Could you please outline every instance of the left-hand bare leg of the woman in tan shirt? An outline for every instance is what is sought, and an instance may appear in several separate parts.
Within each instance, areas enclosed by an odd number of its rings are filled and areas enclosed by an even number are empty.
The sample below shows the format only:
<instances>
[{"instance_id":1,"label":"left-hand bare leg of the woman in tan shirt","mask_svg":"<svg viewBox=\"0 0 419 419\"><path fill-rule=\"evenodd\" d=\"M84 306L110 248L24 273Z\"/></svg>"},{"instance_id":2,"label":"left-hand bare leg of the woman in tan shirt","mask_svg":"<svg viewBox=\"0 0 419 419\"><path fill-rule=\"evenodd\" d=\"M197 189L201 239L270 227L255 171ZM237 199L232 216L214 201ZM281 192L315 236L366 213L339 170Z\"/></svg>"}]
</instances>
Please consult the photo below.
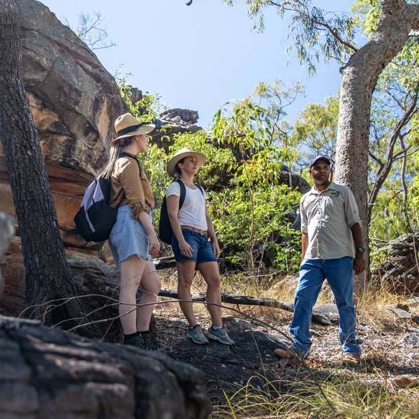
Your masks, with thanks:
<instances>
[{"instance_id":1,"label":"left-hand bare leg of the woman in tan shirt","mask_svg":"<svg viewBox=\"0 0 419 419\"><path fill-rule=\"evenodd\" d=\"M138 256L130 256L120 263L121 286L119 288L119 320L124 335L137 332L137 310L135 295L140 285L145 260Z\"/></svg>"}]
</instances>

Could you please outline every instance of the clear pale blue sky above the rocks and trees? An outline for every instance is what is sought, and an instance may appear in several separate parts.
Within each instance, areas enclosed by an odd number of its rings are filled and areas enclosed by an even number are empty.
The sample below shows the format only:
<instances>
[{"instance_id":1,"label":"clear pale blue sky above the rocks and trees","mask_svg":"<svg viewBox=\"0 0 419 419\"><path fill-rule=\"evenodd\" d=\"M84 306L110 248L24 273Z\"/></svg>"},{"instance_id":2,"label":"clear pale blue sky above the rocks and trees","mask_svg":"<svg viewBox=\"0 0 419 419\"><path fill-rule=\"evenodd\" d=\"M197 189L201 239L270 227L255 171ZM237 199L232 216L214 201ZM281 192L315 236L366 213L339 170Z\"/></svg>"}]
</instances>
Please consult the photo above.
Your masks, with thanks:
<instances>
[{"instance_id":1,"label":"clear pale blue sky above the rocks and trees","mask_svg":"<svg viewBox=\"0 0 419 419\"><path fill-rule=\"evenodd\" d=\"M288 22L272 10L265 31L252 31L244 0L235 7L222 0L42 0L60 20L75 27L80 13L100 11L116 46L96 50L103 66L115 74L131 73L128 82L159 93L170 108L198 110L207 127L223 103L248 96L258 82L302 82L305 96L288 108L297 117L307 103L323 101L339 89L335 63L319 64L308 75L295 53L287 54ZM348 11L352 1L314 1L327 10Z\"/></svg>"}]
</instances>

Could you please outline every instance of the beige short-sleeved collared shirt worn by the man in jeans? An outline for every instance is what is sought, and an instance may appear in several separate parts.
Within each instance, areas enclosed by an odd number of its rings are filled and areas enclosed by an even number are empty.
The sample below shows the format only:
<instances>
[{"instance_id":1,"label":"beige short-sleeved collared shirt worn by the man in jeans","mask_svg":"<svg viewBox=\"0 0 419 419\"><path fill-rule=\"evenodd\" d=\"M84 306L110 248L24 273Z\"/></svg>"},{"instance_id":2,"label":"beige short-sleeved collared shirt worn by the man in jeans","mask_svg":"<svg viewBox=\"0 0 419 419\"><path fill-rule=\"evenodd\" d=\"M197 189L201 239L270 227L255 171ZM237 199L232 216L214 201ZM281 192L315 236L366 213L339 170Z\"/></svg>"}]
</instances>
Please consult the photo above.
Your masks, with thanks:
<instances>
[{"instance_id":1,"label":"beige short-sleeved collared shirt worn by the man in jeans","mask_svg":"<svg viewBox=\"0 0 419 419\"><path fill-rule=\"evenodd\" d=\"M304 258L355 257L351 227L360 223L351 189L331 182L322 192L311 188L300 200L301 231L308 235Z\"/></svg>"}]
</instances>

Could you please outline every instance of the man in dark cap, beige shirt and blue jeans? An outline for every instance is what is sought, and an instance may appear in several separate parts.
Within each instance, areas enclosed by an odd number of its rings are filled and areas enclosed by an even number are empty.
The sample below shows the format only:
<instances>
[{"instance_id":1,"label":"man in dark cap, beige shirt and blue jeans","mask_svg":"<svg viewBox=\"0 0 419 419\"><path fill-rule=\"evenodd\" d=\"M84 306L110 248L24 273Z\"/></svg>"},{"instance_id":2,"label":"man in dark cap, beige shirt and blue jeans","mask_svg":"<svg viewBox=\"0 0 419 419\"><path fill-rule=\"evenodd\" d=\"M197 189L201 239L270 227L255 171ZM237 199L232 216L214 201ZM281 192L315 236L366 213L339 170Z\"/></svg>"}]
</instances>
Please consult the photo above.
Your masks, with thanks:
<instances>
[{"instance_id":1,"label":"man in dark cap, beige shirt and blue jeans","mask_svg":"<svg viewBox=\"0 0 419 419\"><path fill-rule=\"evenodd\" d=\"M300 200L302 263L291 322L293 344L276 349L279 358L304 359L311 347L311 312L325 279L339 310L339 339L346 364L358 365L360 347L355 337L353 273L365 270L358 207L350 189L330 182L330 160L311 162L314 186Z\"/></svg>"}]
</instances>

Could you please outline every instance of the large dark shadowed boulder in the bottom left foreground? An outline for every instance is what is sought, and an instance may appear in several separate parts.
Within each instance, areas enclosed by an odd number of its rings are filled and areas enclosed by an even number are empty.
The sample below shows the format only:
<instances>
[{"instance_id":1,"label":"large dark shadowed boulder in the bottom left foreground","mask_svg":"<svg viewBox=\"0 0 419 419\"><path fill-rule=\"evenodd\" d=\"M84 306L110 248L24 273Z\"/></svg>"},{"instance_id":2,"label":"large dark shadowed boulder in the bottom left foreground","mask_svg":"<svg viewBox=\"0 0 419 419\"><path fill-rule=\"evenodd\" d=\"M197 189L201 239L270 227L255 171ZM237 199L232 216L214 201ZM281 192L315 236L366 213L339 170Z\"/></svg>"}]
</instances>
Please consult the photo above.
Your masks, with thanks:
<instances>
[{"instance_id":1,"label":"large dark shadowed boulder in the bottom left foreground","mask_svg":"<svg viewBox=\"0 0 419 419\"><path fill-rule=\"evenodd\" d=\"M207 418L198 369L0 316L1 418Z\"/></svg>"}]
</instances>

